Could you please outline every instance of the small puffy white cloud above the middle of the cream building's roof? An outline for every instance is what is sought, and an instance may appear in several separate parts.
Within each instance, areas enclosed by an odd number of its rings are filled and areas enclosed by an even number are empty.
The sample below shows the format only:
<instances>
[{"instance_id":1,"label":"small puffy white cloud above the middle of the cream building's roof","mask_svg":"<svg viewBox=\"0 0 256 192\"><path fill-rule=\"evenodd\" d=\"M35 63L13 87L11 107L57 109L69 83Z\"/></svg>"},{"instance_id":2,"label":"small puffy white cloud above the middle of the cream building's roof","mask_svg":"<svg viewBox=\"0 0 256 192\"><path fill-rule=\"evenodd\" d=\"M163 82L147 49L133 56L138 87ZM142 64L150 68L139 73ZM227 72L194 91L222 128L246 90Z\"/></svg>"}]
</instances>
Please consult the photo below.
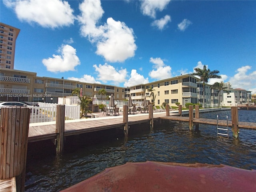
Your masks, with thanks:
<instances>
[{"instance_id":1,"label":"small puffy white cloud above the middle of the cream building's roof","mask_svg":"<svg viewBox=\"0 0 256 192\"><path fill-rule=\"evenodd\" d=\"M161 58L150 58L150 62L153 63L153 68L156 70L152 70L149 72L149 76L153 79L162 80L170 78L172 68L170 66L166 66Z\"/></svg>"}]
</instances>

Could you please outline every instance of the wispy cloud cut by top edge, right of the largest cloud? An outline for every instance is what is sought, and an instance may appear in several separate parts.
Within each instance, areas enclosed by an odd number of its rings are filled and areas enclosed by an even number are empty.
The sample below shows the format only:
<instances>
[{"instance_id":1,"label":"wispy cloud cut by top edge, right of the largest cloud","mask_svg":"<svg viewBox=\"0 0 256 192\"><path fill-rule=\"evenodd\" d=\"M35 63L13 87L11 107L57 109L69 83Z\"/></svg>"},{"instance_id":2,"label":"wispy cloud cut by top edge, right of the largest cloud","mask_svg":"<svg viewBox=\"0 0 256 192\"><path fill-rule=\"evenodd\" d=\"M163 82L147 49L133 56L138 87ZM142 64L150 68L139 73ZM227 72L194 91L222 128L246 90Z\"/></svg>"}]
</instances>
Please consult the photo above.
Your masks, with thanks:
<instances>
[{"instance_id":1,"label":"wispy cloud cut by top edge, right of the largest cloud","mask_svg":"<svg viewBox=\"0 0 256 192\"><path fill-rule=\"evenodd\" d=\"M141 11L143 15L150 16L151 18L156 18L156 11L162 11L166 8L170 0L145 0L141 3Z\"/></svg>"}]
</instances>

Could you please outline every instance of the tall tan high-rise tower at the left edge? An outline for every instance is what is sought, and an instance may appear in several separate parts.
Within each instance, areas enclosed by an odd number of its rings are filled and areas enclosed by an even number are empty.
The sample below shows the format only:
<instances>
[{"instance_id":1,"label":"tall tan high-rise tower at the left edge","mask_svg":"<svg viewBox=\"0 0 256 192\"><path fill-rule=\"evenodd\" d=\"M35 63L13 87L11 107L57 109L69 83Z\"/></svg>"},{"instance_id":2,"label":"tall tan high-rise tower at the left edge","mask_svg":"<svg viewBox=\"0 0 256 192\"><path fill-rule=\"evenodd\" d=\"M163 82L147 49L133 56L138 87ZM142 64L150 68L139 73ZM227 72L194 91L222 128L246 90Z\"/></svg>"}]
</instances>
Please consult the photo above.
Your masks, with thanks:
<instances>
[{"instance_id":1,"label":"tall tan high-rise tower at the left edge","mask_svg":"<svg viewBox=\"0 0 256 192\"><path fill-rule=\"evenodd\" d=\"M0 23L0 68L14 68L15 44L20 29Z\"/></svg>"}]
</instances>

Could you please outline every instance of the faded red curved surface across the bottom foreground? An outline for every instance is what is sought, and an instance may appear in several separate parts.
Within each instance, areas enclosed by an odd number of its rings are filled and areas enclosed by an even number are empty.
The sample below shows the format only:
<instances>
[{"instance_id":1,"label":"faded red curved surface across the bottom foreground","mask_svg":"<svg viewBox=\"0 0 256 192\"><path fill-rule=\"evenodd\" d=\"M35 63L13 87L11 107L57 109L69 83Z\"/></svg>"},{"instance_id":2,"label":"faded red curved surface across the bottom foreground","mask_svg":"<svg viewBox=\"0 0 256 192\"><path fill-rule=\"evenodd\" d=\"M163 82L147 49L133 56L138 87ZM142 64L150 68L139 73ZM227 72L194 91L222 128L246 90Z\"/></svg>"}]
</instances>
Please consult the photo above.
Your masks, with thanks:
<instances>
[{"instance_id":1,"label":"faded red curved surface across the bottom foreground","mask_svg":"<svg viewBox=\"0 0 256 192\"><path fill-rule=\"evenodd\" d=\"M138 162L106 168L62 192L255 191L256 170L226 165Z\"/></svg>"}]
</instances>

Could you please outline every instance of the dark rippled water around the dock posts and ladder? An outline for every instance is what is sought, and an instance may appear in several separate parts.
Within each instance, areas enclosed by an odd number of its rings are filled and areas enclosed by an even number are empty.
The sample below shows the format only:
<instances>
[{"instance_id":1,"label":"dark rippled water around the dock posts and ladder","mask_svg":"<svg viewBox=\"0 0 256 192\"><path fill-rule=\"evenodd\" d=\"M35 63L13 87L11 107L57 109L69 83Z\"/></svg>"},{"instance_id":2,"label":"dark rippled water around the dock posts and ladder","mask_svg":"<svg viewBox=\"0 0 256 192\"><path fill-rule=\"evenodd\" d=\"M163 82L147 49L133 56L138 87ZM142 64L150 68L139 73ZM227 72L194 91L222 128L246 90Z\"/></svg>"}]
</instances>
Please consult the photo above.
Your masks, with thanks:
<instances>
[{"instance_id":1,"label":"dark rippled water around the dock posts and ladder","mask_svg":"<svg viewBox=\"0 0 256 192\"><path fill-rule=\"evenodd\" d=\"M226 120L230 110L200 114L202 118ZM256 122L256 111L239 110L239 121ZM231 120L229 118L229 120ZM167 122L131 127L125 140L122 130L108 130L66 140L66 151L54 155L52 142L28 146L26 191L55 192L72 186L105 168L126 162L181 162L225 164L256 170L256 131L240 130L239 141L218 138L216 126L200 125L189 132L188 123ZM70 141L76 140L77 142Z\"/></svg>"}]
</instances>

